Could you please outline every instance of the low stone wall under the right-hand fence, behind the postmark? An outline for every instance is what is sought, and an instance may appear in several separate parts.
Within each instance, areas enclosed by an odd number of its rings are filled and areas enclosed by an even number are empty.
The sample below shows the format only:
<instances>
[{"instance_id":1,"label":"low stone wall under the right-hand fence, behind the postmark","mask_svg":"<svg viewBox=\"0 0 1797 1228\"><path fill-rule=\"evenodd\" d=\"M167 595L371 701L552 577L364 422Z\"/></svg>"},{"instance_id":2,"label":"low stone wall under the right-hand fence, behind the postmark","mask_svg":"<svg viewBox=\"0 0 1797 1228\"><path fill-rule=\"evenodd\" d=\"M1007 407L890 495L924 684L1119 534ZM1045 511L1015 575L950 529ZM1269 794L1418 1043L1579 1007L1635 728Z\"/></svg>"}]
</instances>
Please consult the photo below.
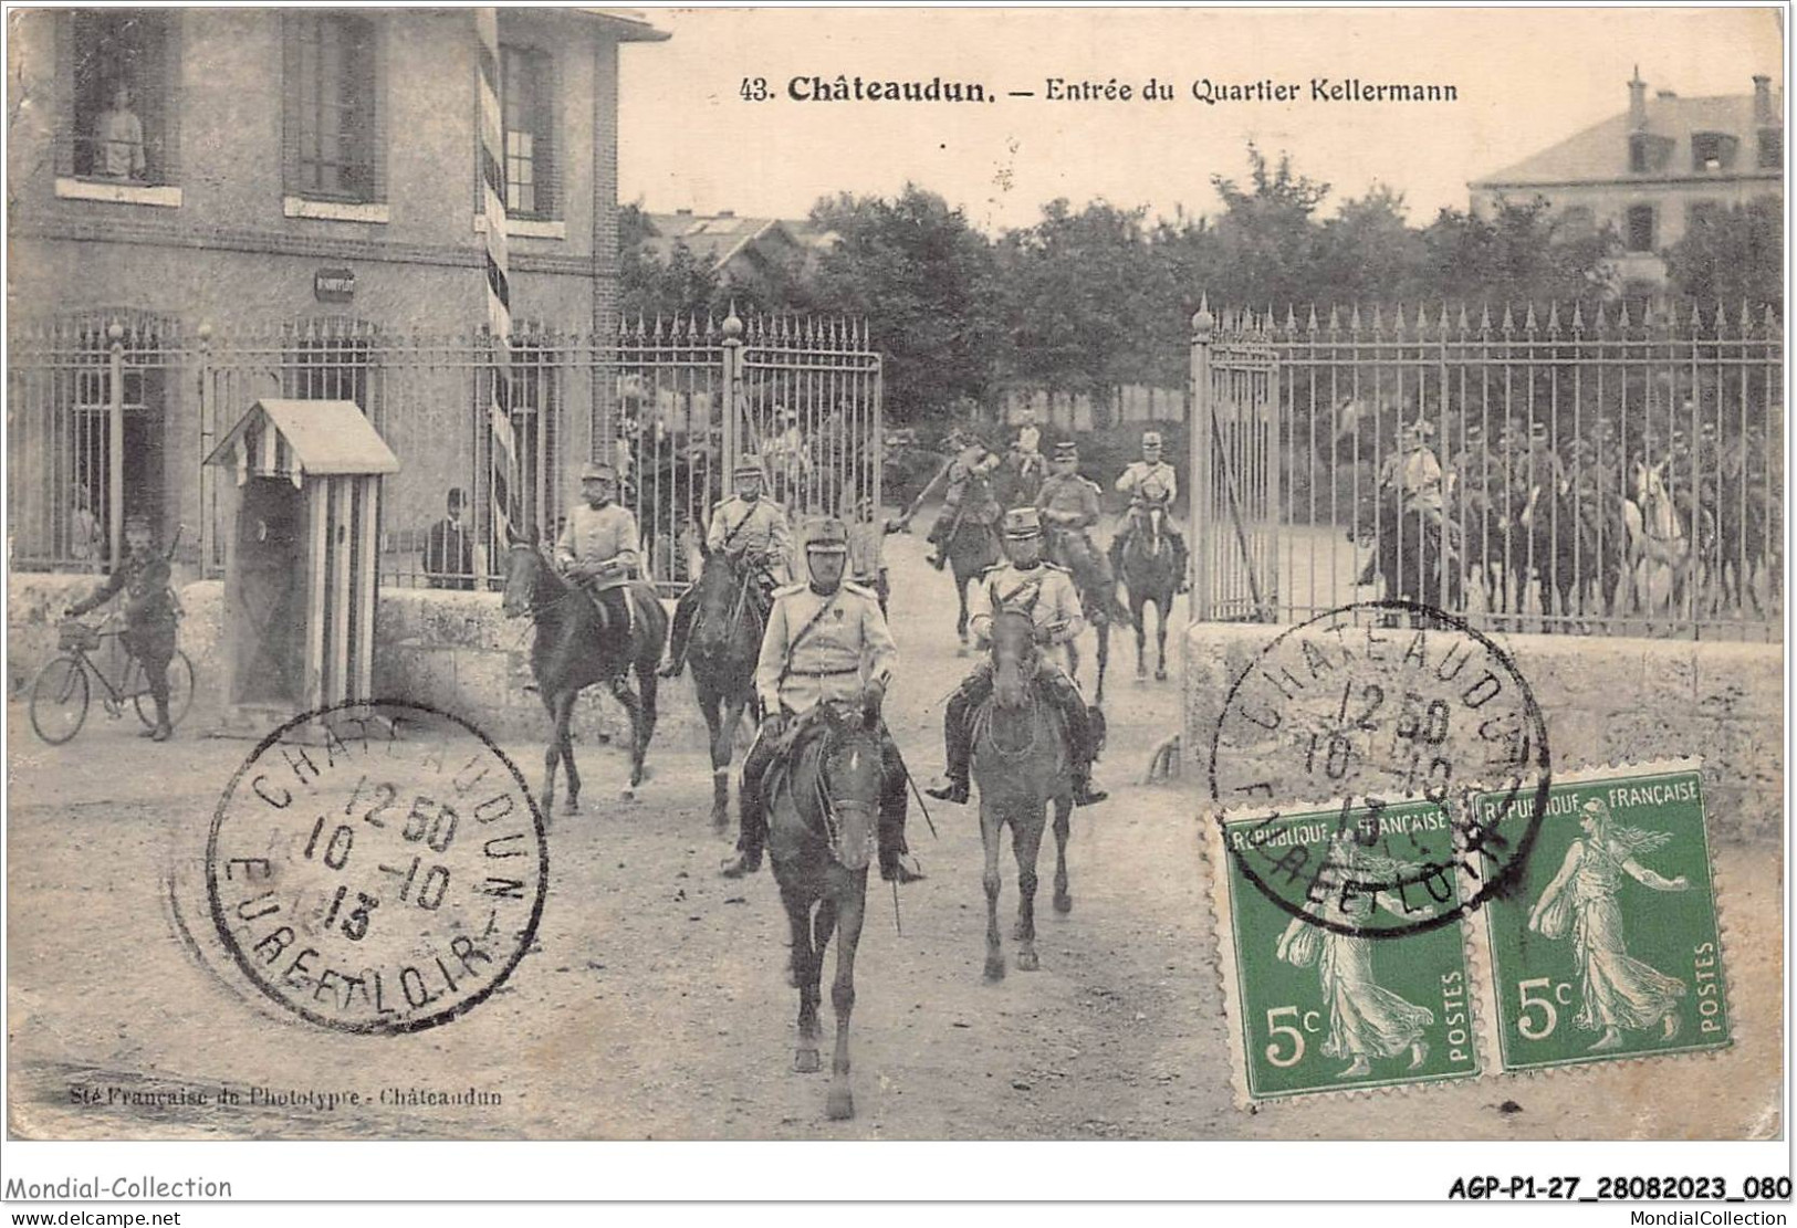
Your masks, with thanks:
<instances>
[{"instance_id":1,"label":"low stone wall under the right-hand fence, behind the postmark","mask_svg":"<svg viewBox=\"0 0 1797 1228\"><path fill-rule=\"evenodd\" d=\"M1186 632L1184 772L1206 790L1229 686L1283 627ZM1305 632L1297 632L1303 636ZM1315 632L1321 641L1324 632ZM1711 833L1779 844L1783 645L1492 636L1535 693L1556 768L1702 756Z\"/></svg>"}]
</instances>

